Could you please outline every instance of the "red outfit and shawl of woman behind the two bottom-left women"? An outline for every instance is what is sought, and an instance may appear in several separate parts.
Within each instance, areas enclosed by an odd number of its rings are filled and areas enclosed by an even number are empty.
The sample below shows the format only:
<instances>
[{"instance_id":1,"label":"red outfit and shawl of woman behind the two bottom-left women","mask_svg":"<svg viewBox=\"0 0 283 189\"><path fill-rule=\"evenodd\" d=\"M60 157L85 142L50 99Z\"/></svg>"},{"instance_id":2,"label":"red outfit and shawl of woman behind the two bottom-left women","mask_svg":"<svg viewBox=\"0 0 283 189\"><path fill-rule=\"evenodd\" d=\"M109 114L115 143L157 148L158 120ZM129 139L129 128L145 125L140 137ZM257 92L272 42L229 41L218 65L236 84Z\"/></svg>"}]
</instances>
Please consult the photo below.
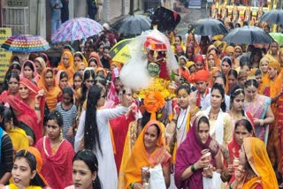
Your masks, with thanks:
<instances>
[{"instance_id":1,"label":"red outfit and shawl of woman behind the two bottom-left women","mask_svg":"<svg viewBox=\"0 0 283 189\"><path fill-rule=\"evenodd\" d=\"M51 153L50 140L43 137L35 146L42 155L42 176L51 188L64 189L73 185L73 147L67 140L63 140L55 155Z\"/></svg>"}]
</instances>

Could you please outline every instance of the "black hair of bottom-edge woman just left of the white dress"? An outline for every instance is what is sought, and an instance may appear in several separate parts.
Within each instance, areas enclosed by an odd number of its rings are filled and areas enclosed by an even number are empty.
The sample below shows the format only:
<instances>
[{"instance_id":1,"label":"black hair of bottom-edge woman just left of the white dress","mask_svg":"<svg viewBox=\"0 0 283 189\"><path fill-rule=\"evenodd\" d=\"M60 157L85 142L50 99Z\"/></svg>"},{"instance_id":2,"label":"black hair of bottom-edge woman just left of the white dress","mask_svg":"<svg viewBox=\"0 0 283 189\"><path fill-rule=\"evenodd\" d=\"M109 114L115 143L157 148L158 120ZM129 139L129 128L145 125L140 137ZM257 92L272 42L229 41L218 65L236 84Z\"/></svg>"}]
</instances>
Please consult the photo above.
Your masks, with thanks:
<instances>
[{"instance_id":1,"label":"black hair of bottom-edge woman just left of the white dress","mask_svg":"<svg viewBox=\"0 0 283 189\"><path fill-rule=\"evenodd\" d=\"M86 163L88 169L91 171L92 174L96 172L96 179L93 181L92 185L93 188L101 189L102 186L100 183L100 179L98 178L98 161L96 155L89 149L80 150L79 152L77 152L76 155L73 156L73 162L78 160Z\"/></svg>"}]
</instances>

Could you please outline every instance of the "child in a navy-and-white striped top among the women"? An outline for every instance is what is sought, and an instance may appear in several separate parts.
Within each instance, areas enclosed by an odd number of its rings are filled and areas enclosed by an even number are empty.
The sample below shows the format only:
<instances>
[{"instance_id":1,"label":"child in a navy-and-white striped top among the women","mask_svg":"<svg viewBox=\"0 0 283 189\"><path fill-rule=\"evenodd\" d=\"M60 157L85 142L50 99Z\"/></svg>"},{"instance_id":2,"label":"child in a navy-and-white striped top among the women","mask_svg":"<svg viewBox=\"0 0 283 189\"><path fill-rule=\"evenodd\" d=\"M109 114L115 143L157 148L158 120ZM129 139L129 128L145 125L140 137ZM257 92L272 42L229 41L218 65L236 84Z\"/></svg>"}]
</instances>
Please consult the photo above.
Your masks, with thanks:
<instances>
[{"instance_id":1,"label":"child in a navy-and-white striped top among the women","mask_svg":"<svg viewBox=\"0 0 283 189\"><path fill-rule=\"evenodd\" d=\"M71 87L63 88L63 100L57 103L57 111L63 116L63 139L73 145L73 129L76 126L77 107L73 104L73 90Z\"/></svg>"}]
</instances>

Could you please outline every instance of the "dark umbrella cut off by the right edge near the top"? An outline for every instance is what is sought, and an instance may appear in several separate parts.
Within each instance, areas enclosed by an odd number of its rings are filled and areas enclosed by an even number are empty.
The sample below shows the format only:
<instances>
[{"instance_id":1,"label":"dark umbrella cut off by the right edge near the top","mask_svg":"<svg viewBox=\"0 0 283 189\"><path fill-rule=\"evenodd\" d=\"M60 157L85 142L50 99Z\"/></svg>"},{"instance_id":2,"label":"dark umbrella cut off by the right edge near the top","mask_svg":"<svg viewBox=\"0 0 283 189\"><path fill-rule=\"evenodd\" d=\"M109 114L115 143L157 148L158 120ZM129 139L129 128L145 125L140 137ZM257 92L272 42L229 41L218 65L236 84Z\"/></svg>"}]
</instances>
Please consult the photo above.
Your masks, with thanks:
<instances>
[{"instance_id":1,"label":"dark umbrella cut off by the right edge near the top","mask_svg":"<svg viewBox=\"0 0 283 189\"><path fill-rule=\"evenodd\" d=\"M272 10L267 11L260 18L260 22L267 22L269 24L282 24L283 25L283 11L282 10Z\"/></svg>"}]
</instances>

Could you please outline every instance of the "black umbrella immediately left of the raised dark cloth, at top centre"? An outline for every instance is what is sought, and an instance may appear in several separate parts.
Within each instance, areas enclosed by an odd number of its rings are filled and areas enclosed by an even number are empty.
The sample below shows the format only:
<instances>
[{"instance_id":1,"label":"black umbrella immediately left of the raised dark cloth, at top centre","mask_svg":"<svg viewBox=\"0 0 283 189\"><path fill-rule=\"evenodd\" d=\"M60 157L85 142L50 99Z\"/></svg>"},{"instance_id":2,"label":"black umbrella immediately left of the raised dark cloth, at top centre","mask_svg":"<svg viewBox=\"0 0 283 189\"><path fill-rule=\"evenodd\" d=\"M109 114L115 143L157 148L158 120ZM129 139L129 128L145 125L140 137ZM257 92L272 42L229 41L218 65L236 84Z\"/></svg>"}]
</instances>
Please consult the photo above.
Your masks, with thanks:
<instances>
[{"instance_id":1,"label":"black umbrella immediately left of the raised dark cloth, at top centre","mask_svg":"<svg viewBox=\"0 0 283 189\"><path fill-rule=\"evenodd\" d=\"M113 28L121 34L142 34L143 31L149 30L150 26L151 20L148 17L131 15L120 20Z\"/></svg>"}]
</instances>

